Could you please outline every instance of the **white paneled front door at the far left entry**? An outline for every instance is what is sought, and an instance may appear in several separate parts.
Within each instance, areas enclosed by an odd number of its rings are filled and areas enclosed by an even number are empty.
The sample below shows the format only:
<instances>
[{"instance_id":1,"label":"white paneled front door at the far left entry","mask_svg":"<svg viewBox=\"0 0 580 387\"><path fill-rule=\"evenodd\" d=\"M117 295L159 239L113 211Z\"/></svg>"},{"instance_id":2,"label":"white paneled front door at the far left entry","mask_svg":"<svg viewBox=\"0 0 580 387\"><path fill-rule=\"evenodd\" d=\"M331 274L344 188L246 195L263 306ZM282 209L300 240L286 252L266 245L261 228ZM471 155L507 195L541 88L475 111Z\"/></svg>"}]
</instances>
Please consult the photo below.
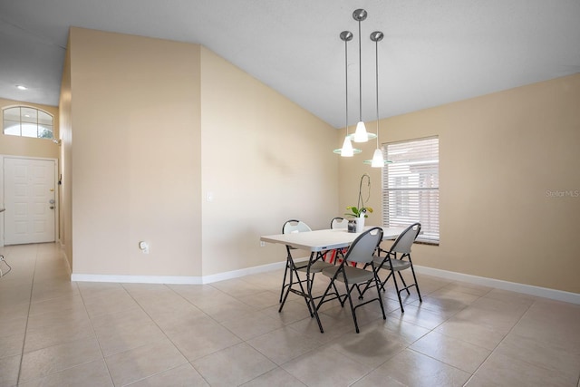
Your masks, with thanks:
<instances>
[{"instance_id":1,"label":"white paneled front door at the far left entry","mask_svg":"<svg viewBox=\"0 0 580 387\"><path fill-rule=\"evenodd\" d=\"M4 158L5 244L54 242L54 160Z\"/></svg>"}]
</instances>

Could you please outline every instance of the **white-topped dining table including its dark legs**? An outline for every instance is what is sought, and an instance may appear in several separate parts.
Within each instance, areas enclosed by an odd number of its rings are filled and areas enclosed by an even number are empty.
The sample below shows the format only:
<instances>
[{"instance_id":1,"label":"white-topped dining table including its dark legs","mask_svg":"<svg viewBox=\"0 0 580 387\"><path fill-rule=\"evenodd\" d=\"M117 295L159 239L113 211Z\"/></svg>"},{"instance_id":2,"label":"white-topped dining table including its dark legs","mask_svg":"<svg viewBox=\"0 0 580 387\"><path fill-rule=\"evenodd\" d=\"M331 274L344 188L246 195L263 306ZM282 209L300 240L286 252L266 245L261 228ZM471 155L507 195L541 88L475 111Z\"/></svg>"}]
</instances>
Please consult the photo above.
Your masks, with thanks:
<instances>
[{"instance_id":1,"label":"white-topped dining table including its dark legs","mask_svg":"<svg viewBox=\"0 0 580 387\"><path fill-rule=\"evenodd\" d=\"M364 230L362 232L372 227L373 226L366 226L364 227ZM404 227L381 227L381 228L382 228L382 240L394 239L398 237L399 234L401 234L401 232L404 230ZM302 288L300 289L293 288L292 286L293 283L291 280L290 285L286 289L285 295L292 292L295 293L296 295L301 295L302 297L304 297L306 305L308 306L308 310L310 311L311 316L316 318L316 322L318 323L318 327L320 328L321 333L324 333L324 329L322 323L320 322L320 317L318 316L317 307L314 304L314 300L317 297L314 297L312 295L312 284L314 280L314 273L311 276L310 266L314 264L314 262L317 261L318 259L324 259L324 254L328 251L339 250L351 246L354 240L357 237L361 236L362 232L360 233L349 232L347 228L329 228L313 231L294 232L288 234L266 235L260 237L261 242L281 244L285 245L286 247L310 251L310 257L308 258L309 262L305 270L306 290L304 291ZM294 260L295 258L288 253L288 259ZM298 284L301 285L300 282L298 282ZM286 296L284 297L284 301L281 302L278 312L282 312L282 308L284 307L285 304L285 298Z\"/></svg>"}]
</instances>

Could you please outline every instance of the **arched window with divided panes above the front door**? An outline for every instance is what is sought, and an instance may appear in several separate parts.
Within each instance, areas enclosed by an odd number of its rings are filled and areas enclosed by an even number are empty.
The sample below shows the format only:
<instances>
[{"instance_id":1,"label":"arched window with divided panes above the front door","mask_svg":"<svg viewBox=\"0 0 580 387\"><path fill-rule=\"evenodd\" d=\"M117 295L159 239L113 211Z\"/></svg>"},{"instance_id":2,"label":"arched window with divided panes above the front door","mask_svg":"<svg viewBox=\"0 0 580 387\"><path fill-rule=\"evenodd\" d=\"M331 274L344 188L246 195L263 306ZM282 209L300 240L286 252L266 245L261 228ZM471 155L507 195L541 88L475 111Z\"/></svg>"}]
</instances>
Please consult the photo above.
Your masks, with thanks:
<instances>
[{"instance_id":1,"label":"arched window with divided panes above the front door","mask_svg":"<svg viewBox=\"0 0 580 387\"><path fill-rule=\"evenodd\" d=\"M29 106L13 106L2 111L4 134L53 140L53 115Z\"/></svg>"}]
</instances>

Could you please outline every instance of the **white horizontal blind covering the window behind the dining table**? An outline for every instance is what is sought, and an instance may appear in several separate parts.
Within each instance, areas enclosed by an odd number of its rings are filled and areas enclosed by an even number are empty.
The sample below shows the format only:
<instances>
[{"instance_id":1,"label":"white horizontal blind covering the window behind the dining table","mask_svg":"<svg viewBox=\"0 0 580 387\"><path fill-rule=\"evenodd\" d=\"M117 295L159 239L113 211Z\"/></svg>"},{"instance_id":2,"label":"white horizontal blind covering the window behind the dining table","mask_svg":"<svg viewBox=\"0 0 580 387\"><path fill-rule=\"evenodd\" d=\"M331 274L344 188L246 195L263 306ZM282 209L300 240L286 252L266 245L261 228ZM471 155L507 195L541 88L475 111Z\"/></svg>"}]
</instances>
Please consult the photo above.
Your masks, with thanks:
<instances>
[{"instance_id":1,"label":"white horizontal blind covering the window behind the dining table","mask_svg":"<svg viewBox=\"0 0 580 387\"><path fill-rule=\"evenodd\" d=\"M439 138L385 144L382 223L407 227L420 222L423 242L439 242Z\"/></svg>"}]
</instances>

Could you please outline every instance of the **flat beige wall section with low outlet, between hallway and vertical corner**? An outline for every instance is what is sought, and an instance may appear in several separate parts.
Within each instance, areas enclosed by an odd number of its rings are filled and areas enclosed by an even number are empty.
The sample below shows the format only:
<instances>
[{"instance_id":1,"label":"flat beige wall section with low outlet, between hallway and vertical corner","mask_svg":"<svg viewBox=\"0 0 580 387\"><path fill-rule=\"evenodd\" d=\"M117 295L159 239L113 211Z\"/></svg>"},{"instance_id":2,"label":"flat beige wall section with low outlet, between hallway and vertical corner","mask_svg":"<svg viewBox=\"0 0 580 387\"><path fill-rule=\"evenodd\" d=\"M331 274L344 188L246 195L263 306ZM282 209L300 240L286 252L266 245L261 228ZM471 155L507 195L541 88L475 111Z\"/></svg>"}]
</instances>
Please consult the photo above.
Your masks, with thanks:
<instances>
[{"instance_id":1,"label":"flat beige wall section with low outlet, between hallway and vertical corner","mask_svg":"<svg viewBox=\"0 0 580 387\"><path fill-rule=\"evenodd\" d=\"M72 28L70 53L73 274L200 275L198 45Z\"/></svg>"}]
</instances>

